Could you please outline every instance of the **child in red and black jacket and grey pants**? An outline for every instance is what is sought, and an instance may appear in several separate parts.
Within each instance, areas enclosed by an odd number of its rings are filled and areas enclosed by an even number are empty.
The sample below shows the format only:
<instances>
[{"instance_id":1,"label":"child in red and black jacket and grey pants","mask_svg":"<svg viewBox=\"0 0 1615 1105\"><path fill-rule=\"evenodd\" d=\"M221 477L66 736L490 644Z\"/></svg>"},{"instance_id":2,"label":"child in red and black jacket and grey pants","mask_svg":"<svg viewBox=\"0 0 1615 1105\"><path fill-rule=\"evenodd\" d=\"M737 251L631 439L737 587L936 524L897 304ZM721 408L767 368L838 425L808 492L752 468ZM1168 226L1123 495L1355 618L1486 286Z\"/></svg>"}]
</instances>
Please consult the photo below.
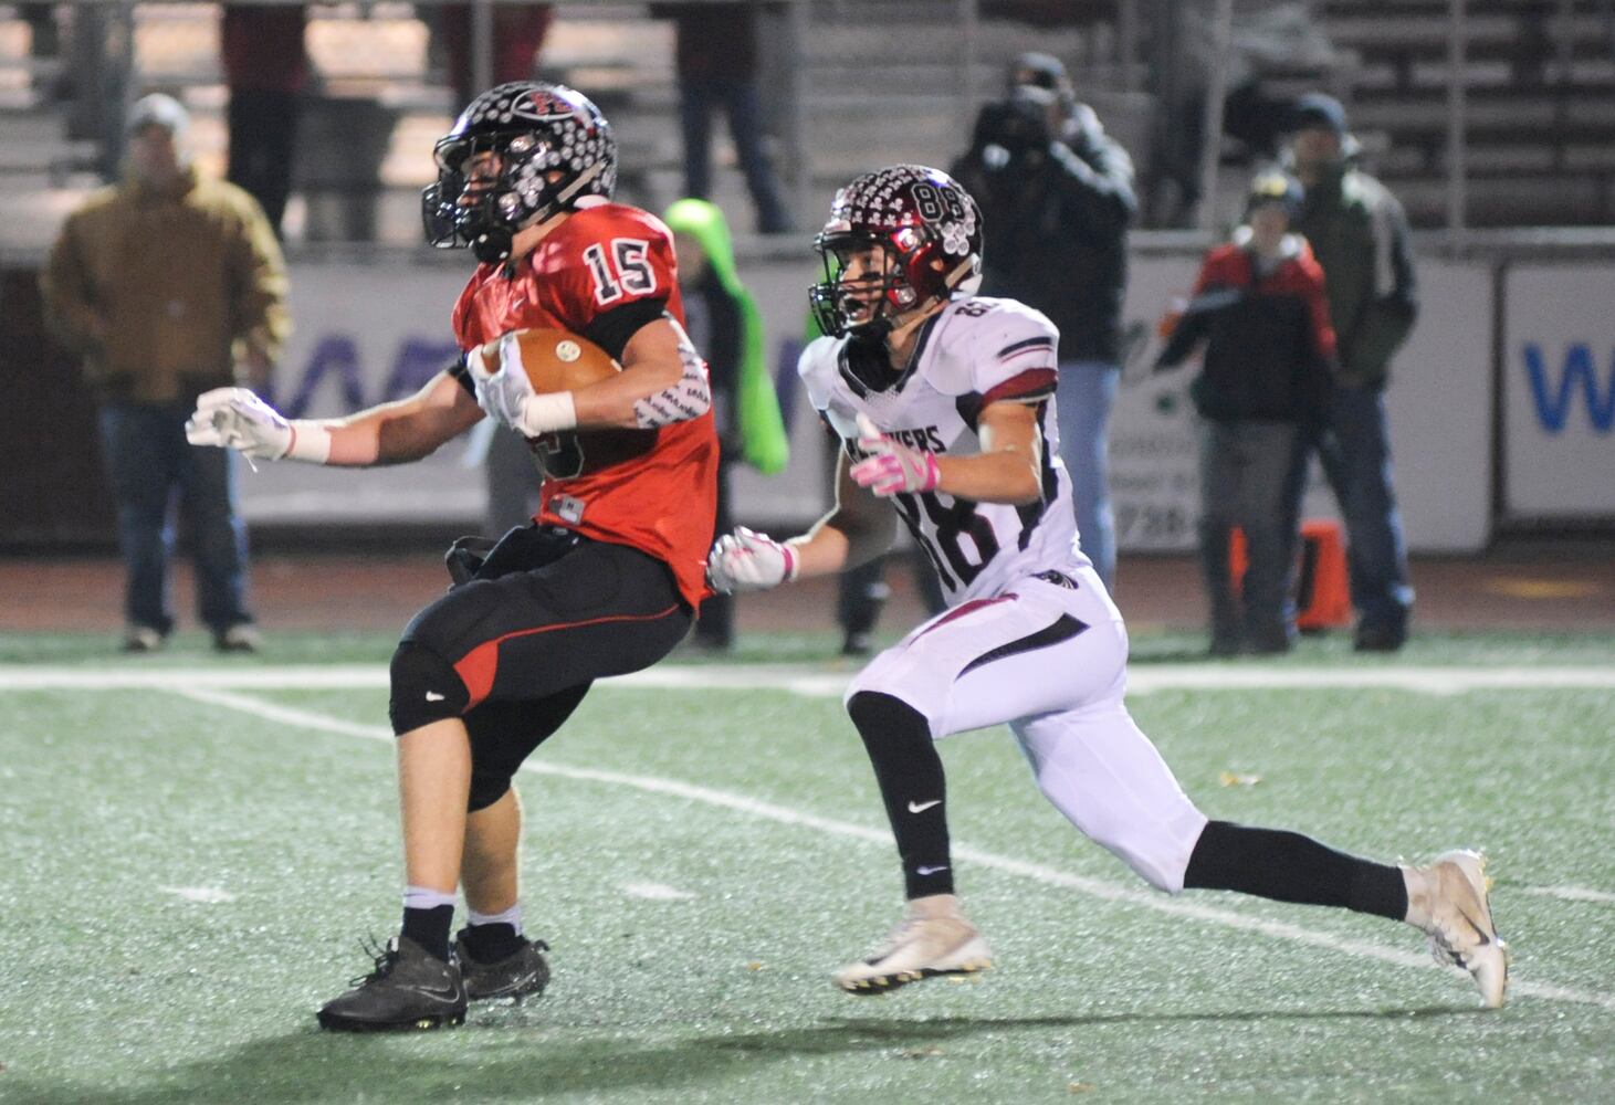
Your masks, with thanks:
<instances>
[{"instance_id":1,"label":"child in red and black jacket and grey pants","mask_svg":"<svg viewBox=\"0 0 1615 1105\"><path fill-rule=\"evenodd\" d=\"M1324 417L1336 355L1323 270L1289 233L1302 187L1282 173L1252 184L1247 225L1213 249L1156 368L1205 342L1190 386L1200 412L1200 564L1211 599L1211 653L1284 653L1295 637L1290 575L1302 485L1294 457ZM1245 535L1240 595L1229 536ZM1244 609L1242 609L1244 607Z\"/></svg>"}]
</instances>

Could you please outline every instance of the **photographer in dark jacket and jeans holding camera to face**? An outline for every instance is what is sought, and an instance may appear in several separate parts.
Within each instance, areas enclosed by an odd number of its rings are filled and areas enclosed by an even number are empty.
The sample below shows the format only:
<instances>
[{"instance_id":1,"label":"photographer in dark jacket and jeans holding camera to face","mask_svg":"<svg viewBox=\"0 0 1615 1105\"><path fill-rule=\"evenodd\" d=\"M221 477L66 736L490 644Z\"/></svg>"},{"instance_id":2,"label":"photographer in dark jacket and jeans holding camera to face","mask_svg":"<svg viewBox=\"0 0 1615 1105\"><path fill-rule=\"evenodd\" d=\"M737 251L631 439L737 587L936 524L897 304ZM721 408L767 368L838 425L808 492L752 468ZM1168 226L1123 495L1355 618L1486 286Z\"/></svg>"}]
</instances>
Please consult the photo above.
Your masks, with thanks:
<instances>
[{"instance_id":1,"label":"photographer in dark jacket and jeans holding camera to face","mask_svg":"<svg viewBox=\"0 0 1615 1105\"><path fill-rule=\"evenodd\" d=\"M1108 430L1137 212L1132 158L1077 103L1056 58L1026 53L1009 69L1008 100L982 108L953 176L982 205L982 292L1037 307L1059 328L1059 454L1082 551L1113 586Z\"/></svg>"}]
</instances>

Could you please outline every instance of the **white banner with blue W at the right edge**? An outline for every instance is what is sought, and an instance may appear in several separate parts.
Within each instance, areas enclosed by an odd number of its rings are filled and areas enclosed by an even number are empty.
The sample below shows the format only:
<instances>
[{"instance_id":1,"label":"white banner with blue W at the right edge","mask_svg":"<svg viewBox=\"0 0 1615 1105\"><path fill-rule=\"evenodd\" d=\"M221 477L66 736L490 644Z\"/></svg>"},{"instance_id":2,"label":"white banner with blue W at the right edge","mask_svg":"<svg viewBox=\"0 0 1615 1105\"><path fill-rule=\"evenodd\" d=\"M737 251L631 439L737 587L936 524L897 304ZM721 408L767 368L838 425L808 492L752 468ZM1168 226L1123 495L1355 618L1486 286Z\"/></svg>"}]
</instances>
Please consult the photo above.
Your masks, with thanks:
<instances>
[{"instance_id":1,"label":"white banner with blue W at the right edge","mask_svg":"<svg viewBox=\"0 0 1615 1105\"><path fill-rule=\"evenodd\" d=\"M1505 276L1504 509L1615 517L1615 265Z\"/></svg>"}]
</instances>

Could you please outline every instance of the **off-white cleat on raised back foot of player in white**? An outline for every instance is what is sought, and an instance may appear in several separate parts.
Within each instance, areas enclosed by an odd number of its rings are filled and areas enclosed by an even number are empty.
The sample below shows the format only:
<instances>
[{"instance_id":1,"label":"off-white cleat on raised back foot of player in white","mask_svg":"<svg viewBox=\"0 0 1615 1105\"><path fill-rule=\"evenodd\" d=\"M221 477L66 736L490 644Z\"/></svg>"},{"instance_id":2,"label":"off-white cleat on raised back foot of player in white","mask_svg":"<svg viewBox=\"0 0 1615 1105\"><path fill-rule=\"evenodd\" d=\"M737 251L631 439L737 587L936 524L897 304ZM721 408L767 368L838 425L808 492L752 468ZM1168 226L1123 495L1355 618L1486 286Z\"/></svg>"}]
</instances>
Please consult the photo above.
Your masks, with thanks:
<instances>
[{"instance_id":1,"label":"off-white cleat on raised back foot of player in white","mask_svg":"<svg viewBox=\"0 0 1615 1105\"><path fill-rule=\"evenodd\" d=\"M1436 963L1468 971L1481 987L1481 1003L1500 1008L1508 989L1508 945L1492 924L1486 856L1447 851L1410 874L1408 922L1429 934Z\"/></svg>"}]
</instances>

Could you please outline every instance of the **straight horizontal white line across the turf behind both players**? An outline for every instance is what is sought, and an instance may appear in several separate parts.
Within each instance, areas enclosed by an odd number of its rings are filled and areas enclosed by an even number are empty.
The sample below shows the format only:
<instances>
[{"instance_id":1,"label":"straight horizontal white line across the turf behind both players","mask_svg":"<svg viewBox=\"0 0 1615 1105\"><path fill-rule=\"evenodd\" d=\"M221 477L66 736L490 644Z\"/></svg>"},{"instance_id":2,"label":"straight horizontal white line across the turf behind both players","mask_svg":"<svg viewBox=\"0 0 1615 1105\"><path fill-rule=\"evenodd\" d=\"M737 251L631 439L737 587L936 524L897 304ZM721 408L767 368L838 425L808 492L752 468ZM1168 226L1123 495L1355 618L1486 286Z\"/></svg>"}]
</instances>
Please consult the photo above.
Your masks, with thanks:
<instances>
[{"instance_id":1,"label":"straight horizontal white line across the turf behind both players","mask_svg":"<svg viewBox=\"0 0 1615 1105\"><path fill-rule=\"evenodd\" d=\"M856 672L809 664L662 664L601 685L656 690L772 690L840 698ZM21 690L368 690L388 687L384 664L278 667L32 667L0 664L0 691ZM1386 688L1424 695L1476 690L1615 688L1605 667L1263 667L1226 664L1139 664L1127 693L1164 690Z\"/></svg>"}]
</instances>

